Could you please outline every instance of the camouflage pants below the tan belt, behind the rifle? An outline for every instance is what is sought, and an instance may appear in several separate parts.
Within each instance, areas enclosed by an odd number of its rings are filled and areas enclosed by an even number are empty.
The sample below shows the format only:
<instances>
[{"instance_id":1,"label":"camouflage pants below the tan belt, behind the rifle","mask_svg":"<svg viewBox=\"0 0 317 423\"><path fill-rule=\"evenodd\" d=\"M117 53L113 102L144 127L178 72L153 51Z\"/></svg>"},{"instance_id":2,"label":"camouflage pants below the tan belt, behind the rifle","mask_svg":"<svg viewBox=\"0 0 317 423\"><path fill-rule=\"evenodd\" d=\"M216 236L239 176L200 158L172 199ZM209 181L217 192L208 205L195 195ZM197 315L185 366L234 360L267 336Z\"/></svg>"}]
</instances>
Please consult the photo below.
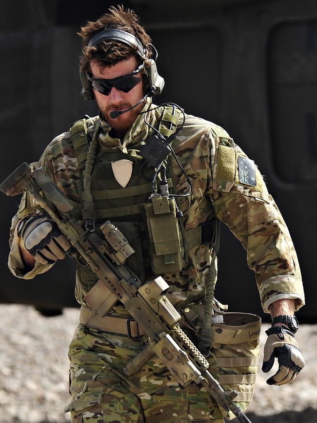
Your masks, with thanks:
<instances>
[{"instance_id":1,"label":"camouflage pants below the tan belt, behind the rifle","mask_svg":"<svg viewBox=\"0 0 317 423\"><path fill-rule=\"evenodd\" d=\"M181 387L156 358L127 377L122 369L144 347L145 337L129 339L84 328L70 344L73 423L223 423L205 388Z\"/></svg>"}]
</instances>

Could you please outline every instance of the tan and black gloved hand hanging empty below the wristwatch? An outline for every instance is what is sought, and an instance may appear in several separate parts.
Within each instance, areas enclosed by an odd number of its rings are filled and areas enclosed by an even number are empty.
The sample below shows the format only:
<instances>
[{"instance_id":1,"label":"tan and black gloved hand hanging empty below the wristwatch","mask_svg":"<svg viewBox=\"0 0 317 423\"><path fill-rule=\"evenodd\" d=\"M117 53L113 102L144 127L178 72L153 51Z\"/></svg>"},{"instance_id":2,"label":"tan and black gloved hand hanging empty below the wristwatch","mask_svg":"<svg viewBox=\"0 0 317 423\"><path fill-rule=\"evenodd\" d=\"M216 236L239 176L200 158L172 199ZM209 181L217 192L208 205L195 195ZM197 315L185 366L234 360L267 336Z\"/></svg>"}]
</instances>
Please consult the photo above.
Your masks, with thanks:
<instances>
[{"instance_id":1,"label":"tan and black gloved hand hanging empty below the wristwatch","mask_svg":"<svg viewBox=\"0 0 317 423\"><path fill-rule=\"evenodd\" d=\"M278 361L277 373L269 378L269 385L285 385L293 382L305 366L304 357L298 349L294 334L284 326L273 326L265 332L268 335L264 345L262 371L272 369L275 358Z\"/></svg>"}]
</instances>

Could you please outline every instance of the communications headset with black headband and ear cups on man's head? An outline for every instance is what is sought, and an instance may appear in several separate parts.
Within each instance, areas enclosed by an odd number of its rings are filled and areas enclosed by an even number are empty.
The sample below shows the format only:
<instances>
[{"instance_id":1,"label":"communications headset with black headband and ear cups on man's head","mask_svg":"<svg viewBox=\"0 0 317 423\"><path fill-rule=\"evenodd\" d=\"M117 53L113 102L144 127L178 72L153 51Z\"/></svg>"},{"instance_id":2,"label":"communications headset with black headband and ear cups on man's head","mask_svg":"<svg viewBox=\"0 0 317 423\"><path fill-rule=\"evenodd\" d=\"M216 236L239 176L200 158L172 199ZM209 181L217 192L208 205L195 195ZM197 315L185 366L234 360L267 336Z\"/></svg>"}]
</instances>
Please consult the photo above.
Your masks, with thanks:
<instances>
[{"instance_id":1,"label":"communications headset with black headband and ear cups on man's head","mask_svg":"<svg viewBox=\"0 0 317 423\"><path fill-rule=\"evenodd\" d=\"M105 29L104 31L101 31L96 34L88 42L87 46L90 47L91 45L97 45L105 40L116 40L119 42L123 42L124 44L129 45L130 47L137 48L136 53L139 58L143 61L144 73L150 85L150 89L148 93L144 96L144 98L147 96L152 96L161 93L164 87L164 79L158 75L158 70L155 63L158 58L158 52L152 44L151 46L155 50L154 59L150 59L148 57L148 49L144 47L141 42L137 39L137 37L135 37L133 34L130 34L126 31L122 31L121 29ZM79 68L79 76L82 84L81 97L84 100L95 100L93 94L93 87L91 86L88 80L87 72L82 69L81 64Z\"/></svg>"}]
</instances>

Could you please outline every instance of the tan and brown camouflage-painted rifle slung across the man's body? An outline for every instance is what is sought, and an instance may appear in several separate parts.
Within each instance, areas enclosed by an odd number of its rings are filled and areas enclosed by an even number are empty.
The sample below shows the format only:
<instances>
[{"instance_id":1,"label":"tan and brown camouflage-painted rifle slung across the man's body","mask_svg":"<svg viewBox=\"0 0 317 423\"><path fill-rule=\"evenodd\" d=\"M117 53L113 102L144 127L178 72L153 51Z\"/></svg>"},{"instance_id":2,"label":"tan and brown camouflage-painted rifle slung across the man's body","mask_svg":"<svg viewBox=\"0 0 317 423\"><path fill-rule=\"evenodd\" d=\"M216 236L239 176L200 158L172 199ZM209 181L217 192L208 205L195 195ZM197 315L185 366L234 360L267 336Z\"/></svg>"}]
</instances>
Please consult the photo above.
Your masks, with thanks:
<instances>
[{"instance_id":1,"label":"tan and brown camouflage-painted rifle slung across the man's body","mask_svg":"<svg viewBox=\"0 0 317 423\"><path fill-rule=\"evenodd\" d=\"M142 283L124 264L134 250L118 228L106 221L100 226L103 236L84 230L72 217L74 204L36 164L31 169L27 163L22 163L2 182L0 190L8 196L28 191L57 223L72 246L66 254L69 257L79 255L99 277L84 300L100 317L104 317L119 300L142 327L149 343L127 363L123 370L127 376L157 355L180 385L185 386L191 381L201 384L225 413L231 411L239 422L251 423L233 402L237 391L228 394L222 389L207 370L208 361L180 329L178 322L181 316L165 296L169 288L165 280L158 276ZM45 200L45 196L49 201ZM59 213L50 206L50 202Z\"/></svg>"}]
</instances>

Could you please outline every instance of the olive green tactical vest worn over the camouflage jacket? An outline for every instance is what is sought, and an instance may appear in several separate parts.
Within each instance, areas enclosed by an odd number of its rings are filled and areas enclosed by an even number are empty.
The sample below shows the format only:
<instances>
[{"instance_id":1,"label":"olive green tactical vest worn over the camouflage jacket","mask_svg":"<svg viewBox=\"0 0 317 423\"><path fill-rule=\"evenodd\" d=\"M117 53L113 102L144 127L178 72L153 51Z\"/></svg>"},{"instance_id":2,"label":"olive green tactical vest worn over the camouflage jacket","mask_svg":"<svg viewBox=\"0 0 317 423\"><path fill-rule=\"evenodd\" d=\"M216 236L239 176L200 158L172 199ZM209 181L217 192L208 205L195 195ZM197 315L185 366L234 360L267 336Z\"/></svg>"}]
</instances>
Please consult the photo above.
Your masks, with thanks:
<instances>
[{"instance_id":1,"label":"olive green tactical vest worn over the camouflage jacket","mask_svg":"<svg viewBox=\"0 0 317 423\"><path fill-rule=\"evenodd\" d=\"M85 190L83 169L86 165L90 141L86 122L86 119L81 119L70 129L80 170L82 191ZM165 107L158 130L168 137L175 132L177 123L178 116L172 115L171 107ZM205 236L206 239L202 240L203 227L186 231L185 234L181 219L177 222L178 219L175 217L174 200L169 201L168 206L165 205L170 208L169 213L154 215L153 208L149 204L149 197L152 193L152 177L155 169L144 166L144 160L139 155L142 144L144 142L131 146L127 153L123 153L119 148L104 146L100 148L91 174L91 194L96 211L97 227L104 221L110 220L119 228L135 250L135 254L128 258L126 264L144 281L153 274L179 272L186 263L186 250L211 239ZM112 163L119 160L130 160L133 163L132 175L125 188L122 188L114 177ZM166 163L168 187L170 192L175 193L171 163L168 162ZM81 206L83 207L83 202ZM155 225L160 225L156 229L151 228L154 220ZM161 239L164 230L168 232L168 242ZM171 233L174 233L172 238ZM80 303L96 282L97 277L88 266L78 266L76 296Z\"/></svg>"}]
</instances>

